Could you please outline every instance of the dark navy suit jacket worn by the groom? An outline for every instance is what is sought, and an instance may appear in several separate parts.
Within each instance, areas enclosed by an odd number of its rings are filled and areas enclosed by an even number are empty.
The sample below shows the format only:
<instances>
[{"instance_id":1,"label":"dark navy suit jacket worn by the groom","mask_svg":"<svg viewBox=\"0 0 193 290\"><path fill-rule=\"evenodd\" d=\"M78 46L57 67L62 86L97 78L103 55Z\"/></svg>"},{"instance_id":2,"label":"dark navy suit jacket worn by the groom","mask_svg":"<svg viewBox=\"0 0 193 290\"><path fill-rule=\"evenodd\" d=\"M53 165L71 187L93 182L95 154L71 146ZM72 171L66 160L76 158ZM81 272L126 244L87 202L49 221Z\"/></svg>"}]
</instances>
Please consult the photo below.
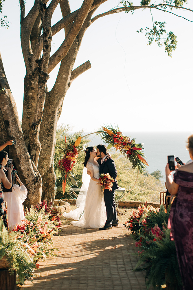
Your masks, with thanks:
<instances>
[{"instance_id":1,"label":"dark navy suit jacket worn by the groom","mask_svg":"<svg viewBox=\"0 0 193 290\"><path fill-rule=\"evenodd\" d=\"M100 168L99 168L99 173L100 175L103 173L109 173L111 175L111 177L113 177L113 179L115 180L115 182L113 182L113 186L112 186L112 192L115 191L115 189L118 189L119 186L117 184L117 180L116 180L116 177L117 177L117 169L116 169L116 166L115 166L115 162L113 159L107 159L106 161L104 160L101 163L101 159L102 158L99 158L98 159L98 164L100 165ZM106 191L106 189L105 189Z\"/></svg>"}]
</instances>

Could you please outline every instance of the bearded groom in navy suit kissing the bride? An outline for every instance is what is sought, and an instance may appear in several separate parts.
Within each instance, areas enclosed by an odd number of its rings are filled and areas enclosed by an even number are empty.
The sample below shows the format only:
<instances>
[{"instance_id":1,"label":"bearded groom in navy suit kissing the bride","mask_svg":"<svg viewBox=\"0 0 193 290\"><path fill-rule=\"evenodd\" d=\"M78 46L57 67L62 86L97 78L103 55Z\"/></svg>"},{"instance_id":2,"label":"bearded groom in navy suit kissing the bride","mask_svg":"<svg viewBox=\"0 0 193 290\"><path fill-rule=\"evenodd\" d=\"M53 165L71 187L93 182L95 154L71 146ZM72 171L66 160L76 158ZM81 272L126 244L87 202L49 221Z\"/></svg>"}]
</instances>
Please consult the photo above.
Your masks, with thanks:
<instances>
[{"instance_id":1,"label":"bearded groom in navy suit kissing the bride","mask_svg":"<svg viewBox=\"0 0 193 290\"><path fill-rule=\"evenodd\" d=\"M115 206L115 189L118 189L117 184L117 169L115 166L115 162L113 159L109 158L106 159L107 155L107 147L105 145L98 145L97 146L97 157L98 163L100 165L100 175L102 173L109 173L111 177L115 180L113 182L112 191L108 189L104 189L104 203L106 206L106 222L103 228L99 228L100 230L108 230L112 229L112 226L118 226L118 219L117 219L117 210Z\"/></svg>"}]
</instances>

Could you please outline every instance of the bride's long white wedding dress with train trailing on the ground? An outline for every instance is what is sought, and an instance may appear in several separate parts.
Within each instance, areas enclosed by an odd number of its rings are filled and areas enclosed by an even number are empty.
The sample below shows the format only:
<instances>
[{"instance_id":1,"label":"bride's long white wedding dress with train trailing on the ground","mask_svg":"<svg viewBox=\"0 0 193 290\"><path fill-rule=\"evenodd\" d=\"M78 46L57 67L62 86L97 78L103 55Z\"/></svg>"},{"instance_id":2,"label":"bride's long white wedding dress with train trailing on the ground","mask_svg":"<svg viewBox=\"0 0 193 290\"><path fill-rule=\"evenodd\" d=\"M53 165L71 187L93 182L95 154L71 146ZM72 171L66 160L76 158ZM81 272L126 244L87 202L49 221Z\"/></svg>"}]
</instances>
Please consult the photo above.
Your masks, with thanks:
<instances>
[{"instance_id":1,"label":"bride's long white wedding dress with train trailing on the ground","mask_svg":"<svg viewBox=\"0 0 193 290\"><path fill-rule=\"evenodd\" d=\"M87 162L87 168L84 167L82 174L82 187L77 198L77 209L69 213L63 213L66 218L78 220L84 210L81 218L78 221L73 221L73 226L81 228L100 228L106 222L106 207L104 204L104 195L100 185L93 181L87 174L87 170L92 170L95 178L99 178L99 164Z\"/></svg>"}]
</instances>

